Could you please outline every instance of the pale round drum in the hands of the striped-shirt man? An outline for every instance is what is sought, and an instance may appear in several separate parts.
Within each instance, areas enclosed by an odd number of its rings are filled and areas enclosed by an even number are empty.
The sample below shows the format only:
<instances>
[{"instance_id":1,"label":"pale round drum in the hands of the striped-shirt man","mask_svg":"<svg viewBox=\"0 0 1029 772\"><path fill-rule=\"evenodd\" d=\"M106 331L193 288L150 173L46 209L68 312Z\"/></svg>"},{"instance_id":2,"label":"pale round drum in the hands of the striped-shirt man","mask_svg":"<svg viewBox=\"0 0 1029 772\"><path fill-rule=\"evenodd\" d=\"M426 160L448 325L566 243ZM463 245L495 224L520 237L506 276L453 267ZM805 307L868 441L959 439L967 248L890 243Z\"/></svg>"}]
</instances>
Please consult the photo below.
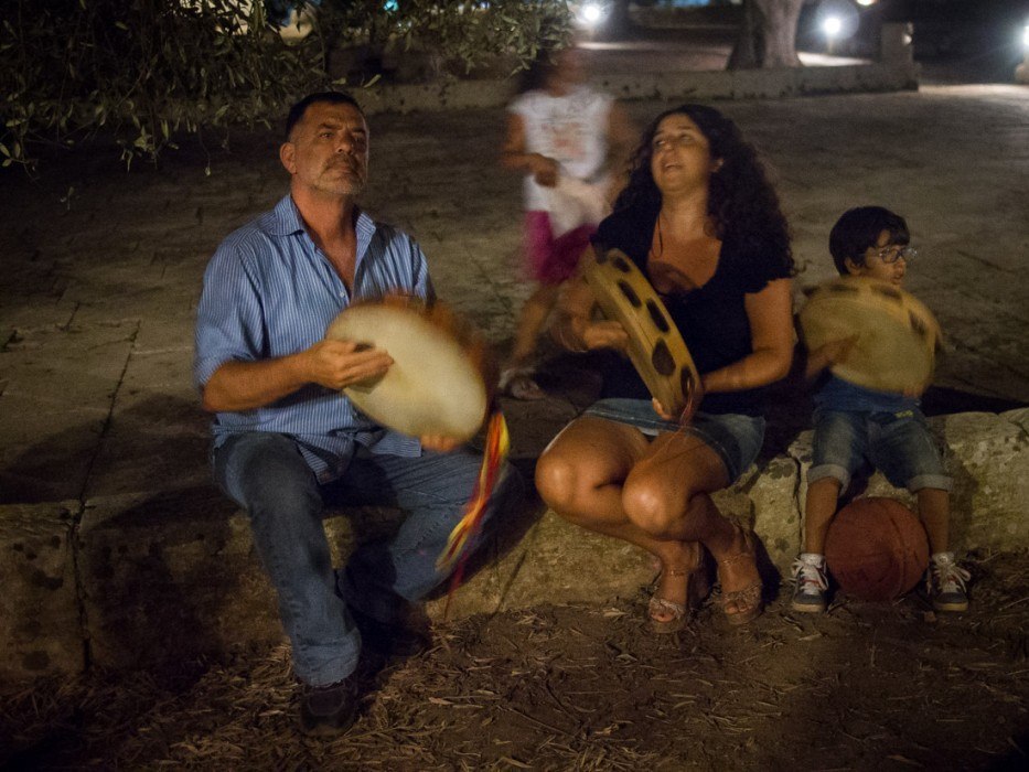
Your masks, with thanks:
<instances>
[{"instance_id":1,"label":"pale round drum in the hands of the striped-shirt man","mask_svg":"<svg viewBox=\"0 0 1029 772\"><path fill-rule=\"evenodd\" d=\"M364 414L411 437L470 439L482 427L492 383L485 345L441 305L389 299L351 305L325 337L382 349L394 364L343 394Z\"/></svg>"}]
</instances>

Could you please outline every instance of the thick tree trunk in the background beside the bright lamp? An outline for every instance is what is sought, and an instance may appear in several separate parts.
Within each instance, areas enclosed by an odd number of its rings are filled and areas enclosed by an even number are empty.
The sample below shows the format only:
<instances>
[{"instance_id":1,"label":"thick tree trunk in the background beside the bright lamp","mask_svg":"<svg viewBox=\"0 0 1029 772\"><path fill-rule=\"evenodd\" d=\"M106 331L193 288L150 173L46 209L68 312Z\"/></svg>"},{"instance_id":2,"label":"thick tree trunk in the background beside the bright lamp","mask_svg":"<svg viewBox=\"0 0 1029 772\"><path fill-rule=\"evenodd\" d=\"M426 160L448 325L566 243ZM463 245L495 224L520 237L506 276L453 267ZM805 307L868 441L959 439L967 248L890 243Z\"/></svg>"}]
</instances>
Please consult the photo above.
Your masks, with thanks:
<instances>
[{"instance_id":1,"label":"thick tree trunk in the background beside the bright lamp","mask_svg":"<svg viewBox=\"0 0 1029 772\"><path fill-rule=\"evenodd\" d=\"M796 67L796 25L805 0L743 0L743 23L729 69Z\"/></svg>"}]
</instances>

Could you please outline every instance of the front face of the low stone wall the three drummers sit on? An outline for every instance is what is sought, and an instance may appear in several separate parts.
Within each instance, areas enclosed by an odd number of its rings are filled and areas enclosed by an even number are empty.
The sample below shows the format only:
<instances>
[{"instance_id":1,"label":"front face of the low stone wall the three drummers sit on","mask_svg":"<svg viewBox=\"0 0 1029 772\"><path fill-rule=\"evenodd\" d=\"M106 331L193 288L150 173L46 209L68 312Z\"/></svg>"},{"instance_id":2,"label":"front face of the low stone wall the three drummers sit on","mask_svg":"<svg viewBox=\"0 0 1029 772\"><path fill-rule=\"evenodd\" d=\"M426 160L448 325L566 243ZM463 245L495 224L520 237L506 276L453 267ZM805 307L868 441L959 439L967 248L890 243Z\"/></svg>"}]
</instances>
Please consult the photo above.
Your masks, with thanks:
<instances>
[{"instance_id":1,"label":"front face of the low stone wall the three drummers sit on","mask_svg":"<svg viewBox=\"0 0 1029 772\"><path fill-rule=\"evenodd\" d=\"M955 548L1029 543L1029 409L939 417L930 427L955 479ZM801 432L784 453L714 494L727 516L754 528L770 582L775 570L789 571L800 549L811 440L811 431ZM862 493L914 505L879 473ZM15 588L0 601L3 618L14 620L0 633L0 648L13 653L0 673L76 672L90 661L110 668L175 666L240 643L281 640L275 592L246 516L210 484L187 478L179 490L96 497L72 535L75 511L0 508L0 580ZM388 507L330 512L334 565L345 562L356 542L380 538L399 522L400 513ZM637 596L655 573L643 550L553 512L540 515L536 506L496 523L449 610L444 586L429 612L440 619L542 602L605 603Z\"/></svg>"}]
</instances>

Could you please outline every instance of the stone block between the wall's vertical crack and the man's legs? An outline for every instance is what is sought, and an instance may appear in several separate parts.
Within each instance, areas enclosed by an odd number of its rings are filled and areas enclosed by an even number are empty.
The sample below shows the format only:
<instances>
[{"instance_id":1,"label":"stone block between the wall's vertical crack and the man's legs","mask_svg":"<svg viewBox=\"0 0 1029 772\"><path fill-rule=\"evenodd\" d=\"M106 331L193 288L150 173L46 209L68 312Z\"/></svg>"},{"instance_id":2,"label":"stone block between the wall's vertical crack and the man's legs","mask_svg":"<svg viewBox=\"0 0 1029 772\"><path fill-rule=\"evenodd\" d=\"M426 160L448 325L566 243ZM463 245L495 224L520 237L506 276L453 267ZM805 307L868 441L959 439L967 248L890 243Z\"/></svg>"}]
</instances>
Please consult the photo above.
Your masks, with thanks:
<instances>
[{"instance_id":1,"label":"stone block between the wall's vertical crack and the man's legs","mask_svg":"<svg viewBox=\"0 0 1029 772\"><path fill-rule=\"evenodd\" d=\"M173 666L233 644L281 640L249 524L210 486L92 500L77 546L98 665Z\"/></svg>"}]
</instances>

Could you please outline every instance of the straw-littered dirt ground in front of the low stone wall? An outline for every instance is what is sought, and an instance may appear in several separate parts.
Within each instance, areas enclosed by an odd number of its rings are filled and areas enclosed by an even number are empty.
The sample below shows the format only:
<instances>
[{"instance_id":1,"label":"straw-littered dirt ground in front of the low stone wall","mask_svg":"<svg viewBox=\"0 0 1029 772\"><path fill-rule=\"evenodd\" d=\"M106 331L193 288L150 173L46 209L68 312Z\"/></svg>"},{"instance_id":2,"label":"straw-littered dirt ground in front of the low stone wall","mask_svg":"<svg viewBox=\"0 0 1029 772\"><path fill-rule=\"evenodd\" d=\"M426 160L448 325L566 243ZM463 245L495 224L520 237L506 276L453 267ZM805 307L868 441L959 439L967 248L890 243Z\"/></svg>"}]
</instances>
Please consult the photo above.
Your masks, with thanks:
<instances>
[{"instance_id":1,"label":"straw-littered dirt ground in front of the low stone wall","mask_svg":"<svg viewBox=\"0 0 1029 772\"><path fill-rule=\"evenodd\" d=\"M285 644L174 677L0 691L3 769L1007 770L1029 766L1029 553L972 556L968 613L913 593L785 593L743 630L715 601L655 636L646 592L437 626L335 740L296 729Z\"/></svg>"}]
</instances>

